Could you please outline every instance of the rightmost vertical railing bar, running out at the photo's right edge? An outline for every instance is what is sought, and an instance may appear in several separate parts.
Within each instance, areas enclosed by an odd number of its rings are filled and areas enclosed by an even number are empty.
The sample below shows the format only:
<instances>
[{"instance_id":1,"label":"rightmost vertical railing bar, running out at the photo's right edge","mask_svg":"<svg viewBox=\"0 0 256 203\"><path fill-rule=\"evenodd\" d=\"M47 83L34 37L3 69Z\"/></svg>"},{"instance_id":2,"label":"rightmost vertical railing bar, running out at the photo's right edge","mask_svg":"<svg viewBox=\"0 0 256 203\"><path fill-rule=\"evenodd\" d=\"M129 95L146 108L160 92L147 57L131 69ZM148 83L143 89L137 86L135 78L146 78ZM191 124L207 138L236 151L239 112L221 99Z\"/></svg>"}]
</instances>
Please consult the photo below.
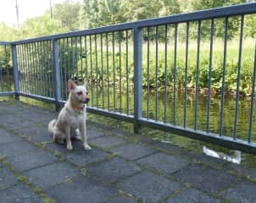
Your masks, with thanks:
<instances>
[{"instance_id":1,"label":"rightmost vertical railing bar, running out at the photo's right edge","mask_svg":"<svg viewBox=\"0 0 256 203\"><path fill-rule=\"evenodd\" d=\"M253 81L252 81L252 93L251 93L250 121L249 121L249 130L248 130L248 143L251 143L251 140L252 140L253 112L254 112L254 100L255 100L255 80L256 80L256 42L255 42L255 49L254 49Z\"/></svg>"}]
</instances>

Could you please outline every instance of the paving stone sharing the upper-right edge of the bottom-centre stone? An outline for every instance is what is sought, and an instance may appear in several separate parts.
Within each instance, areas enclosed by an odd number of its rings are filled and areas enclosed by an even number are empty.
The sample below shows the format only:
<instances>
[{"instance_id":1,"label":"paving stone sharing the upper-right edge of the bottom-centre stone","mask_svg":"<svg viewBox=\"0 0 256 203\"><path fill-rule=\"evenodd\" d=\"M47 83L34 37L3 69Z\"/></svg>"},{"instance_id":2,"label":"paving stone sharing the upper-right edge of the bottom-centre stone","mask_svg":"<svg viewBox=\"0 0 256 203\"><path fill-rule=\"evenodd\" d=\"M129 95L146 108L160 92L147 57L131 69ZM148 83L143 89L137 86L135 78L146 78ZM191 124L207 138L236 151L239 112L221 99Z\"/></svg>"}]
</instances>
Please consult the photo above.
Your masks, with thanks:
<instances>
[{"instance_id":1,"label":"paving stone sharing the upper-right edge of the bottom-centre stone","mask_svg":"<svg viewBox=\"0 0 256 203\"><path fill-rule=\"evenodd\" d=\"M163 173L174 173L190 163L181 157L170 156L160 152L142 158L137 162Z\"/></svg>"}]
</instances>

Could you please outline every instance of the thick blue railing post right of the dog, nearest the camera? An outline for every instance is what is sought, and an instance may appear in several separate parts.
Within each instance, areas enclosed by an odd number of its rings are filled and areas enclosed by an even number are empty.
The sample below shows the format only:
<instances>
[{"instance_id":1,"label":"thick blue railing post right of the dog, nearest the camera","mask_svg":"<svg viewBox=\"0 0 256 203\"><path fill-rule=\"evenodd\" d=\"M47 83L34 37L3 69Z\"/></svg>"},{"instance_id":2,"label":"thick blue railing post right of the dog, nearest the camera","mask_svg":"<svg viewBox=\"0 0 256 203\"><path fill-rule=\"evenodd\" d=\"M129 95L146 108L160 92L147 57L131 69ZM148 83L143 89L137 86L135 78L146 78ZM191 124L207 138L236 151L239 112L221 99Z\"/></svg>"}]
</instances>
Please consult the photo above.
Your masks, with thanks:
<instances>
[{"instance_id":1,"label":"thick blue railing post right of the dog, nearest the camera","mask_svg":"<svg viewBox=\"0 0 256 203\"><path fill-rule=\"evenodd\" d=\"M134 53L134 132L140 129L142 118L142 28L135 27L133 34Z\"/></svg>"}]
</instances>

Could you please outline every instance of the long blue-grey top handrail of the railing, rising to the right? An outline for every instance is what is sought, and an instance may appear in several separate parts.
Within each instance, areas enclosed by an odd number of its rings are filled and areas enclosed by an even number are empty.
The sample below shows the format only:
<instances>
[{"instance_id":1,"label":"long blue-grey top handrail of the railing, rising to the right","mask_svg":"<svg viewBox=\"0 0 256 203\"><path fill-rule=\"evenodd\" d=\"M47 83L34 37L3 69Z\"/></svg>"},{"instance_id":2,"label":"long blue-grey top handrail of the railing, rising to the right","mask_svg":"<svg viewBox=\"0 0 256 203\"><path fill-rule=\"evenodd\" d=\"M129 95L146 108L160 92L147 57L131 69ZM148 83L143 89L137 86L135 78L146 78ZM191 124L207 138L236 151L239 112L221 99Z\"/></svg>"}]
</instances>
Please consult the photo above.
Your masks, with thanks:
<instances>
[{"instance_id":1,"label":"long blue-grey top handrail of the railing, rising to the right","mask_svg":"<svg viewBox=\"0 0 256 203\"><path fill-rule=\"evenodd\" d=\"M72 32L66 32L51 36L42 36L31 38L21 41L12 41L11 44L22 44L30 43L36 41L51 41L56 39L61 39L65 37L75 37L75 36L86 36L93 34L101 34L106 32L112 32L116 30L131 30L136 27L142 28L147 26L156 26L164 24L177 24L188 21L202 20L202 19L215 19L222 18L226 16L234 16L239 14L256 14L256 3L243 3L239 5L232 5L223 8L211 8L201 11L196 11L188 14L175 14L166 17L160 17L155 19L142 19L131 23L124 23L119 25L109 25L104 27L98 27L89 30L78 30ZM1 42L0 42L1 43ZM1 45L1 44L0 44Z\"/></svg>"}]
</instances>

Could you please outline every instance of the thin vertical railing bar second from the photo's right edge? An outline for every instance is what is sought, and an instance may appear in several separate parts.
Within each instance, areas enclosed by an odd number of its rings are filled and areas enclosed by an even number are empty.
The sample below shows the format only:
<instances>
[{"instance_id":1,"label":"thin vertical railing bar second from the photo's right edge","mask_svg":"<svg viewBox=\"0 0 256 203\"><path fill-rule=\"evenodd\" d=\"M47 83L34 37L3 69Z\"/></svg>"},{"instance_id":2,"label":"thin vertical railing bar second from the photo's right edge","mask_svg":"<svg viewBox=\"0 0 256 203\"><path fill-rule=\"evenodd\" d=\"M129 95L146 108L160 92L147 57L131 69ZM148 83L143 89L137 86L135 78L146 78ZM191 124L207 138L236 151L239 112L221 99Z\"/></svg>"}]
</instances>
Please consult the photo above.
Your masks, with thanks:
<instances>
[{"instance_id":1,"label":"thin vertical railing bar second from the photo's right edge","mask_svg":"<svg viewBox=\"0 0 256 203\"><path fill-rule=\"evenodd\" d=\"M240 86L240 74L241 74L241 61L242 61L242 37L243 37L243 22L244 15L241 16L240 25L240 41L239 41L239 53L238 53L238 64L237 64L237 93L236 93L236 110L235 110L235 120L234 120L234 134L233 139L237 139L237 114L238 114L238 101L239 101L239 86Z\"/></svg>"}]
</instances>

